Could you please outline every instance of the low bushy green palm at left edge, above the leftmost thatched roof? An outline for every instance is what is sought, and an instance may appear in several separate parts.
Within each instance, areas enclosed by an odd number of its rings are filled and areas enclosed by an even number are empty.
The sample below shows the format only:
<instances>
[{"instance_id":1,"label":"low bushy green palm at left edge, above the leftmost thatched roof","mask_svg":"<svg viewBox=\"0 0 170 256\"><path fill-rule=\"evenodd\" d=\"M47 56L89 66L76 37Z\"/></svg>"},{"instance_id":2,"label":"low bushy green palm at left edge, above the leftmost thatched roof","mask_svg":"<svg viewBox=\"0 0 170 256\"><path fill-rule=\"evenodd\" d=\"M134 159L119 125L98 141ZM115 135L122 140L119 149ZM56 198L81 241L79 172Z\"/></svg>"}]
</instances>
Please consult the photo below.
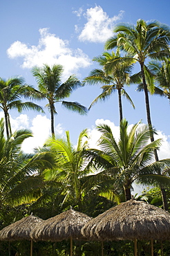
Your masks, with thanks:
<instances>
[{"instance_id":1,"label":"low bushy green palm at left edge, above the leftmost thatched roof","mask_svg":"<svg viewBox=\"0 0 170 256\"><path fill-rule=\"evenodd\" d=\"M30 130L22 129L6 138L3 118L0 120L0 208L37 199L43 185L38 174L53 166L48 152L24 154L21 145L30 136Z\"/></svg>"}]
</instances>

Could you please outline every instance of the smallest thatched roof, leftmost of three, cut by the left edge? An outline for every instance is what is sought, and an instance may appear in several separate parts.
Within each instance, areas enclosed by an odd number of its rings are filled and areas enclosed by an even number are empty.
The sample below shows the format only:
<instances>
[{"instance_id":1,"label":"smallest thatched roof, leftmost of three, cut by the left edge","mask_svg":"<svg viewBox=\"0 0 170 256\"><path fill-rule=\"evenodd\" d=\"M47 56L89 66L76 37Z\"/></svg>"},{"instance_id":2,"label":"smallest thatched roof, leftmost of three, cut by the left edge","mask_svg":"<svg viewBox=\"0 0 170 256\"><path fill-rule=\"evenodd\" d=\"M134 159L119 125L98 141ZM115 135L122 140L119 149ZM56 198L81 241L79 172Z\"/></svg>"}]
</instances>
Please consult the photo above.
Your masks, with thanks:
<instances>
[{"instance_id":1,"label":"smallest thatched roof, leftmost of three, cut by the left edge","mask_svg":"<svg viewBox=\"0 0 170 256\"><path fill-rule=\"evenodd\" d=\"M30 240L30 231L43 221L43 219L35 217L32 214L28 217L24 217L0 230L0 240Z\"/></svg>"}]
</instances>

